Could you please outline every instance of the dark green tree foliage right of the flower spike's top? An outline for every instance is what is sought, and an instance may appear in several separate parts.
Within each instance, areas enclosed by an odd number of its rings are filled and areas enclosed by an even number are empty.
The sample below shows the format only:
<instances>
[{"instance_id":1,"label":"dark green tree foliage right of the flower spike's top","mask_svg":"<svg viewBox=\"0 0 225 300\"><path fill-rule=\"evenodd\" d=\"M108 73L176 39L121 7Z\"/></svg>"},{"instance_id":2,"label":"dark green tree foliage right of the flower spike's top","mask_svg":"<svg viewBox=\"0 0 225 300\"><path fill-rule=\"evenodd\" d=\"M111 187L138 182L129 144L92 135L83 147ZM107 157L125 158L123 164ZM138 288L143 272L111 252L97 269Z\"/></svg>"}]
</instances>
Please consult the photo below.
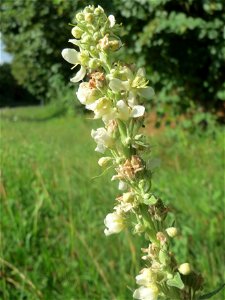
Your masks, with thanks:
<instances>
[{"instance_id":1,"label":"dark green tree foliage right of the flower spike's top","mask_svg":"<svg viewBox=\"0 0 225 300\"><path fill-rule=\"evenodd\" d=\"M225 100L222 1L114 3L126 24L130 54L147 67L161 110L221 107Z\"/></svg>"}]
</instances>

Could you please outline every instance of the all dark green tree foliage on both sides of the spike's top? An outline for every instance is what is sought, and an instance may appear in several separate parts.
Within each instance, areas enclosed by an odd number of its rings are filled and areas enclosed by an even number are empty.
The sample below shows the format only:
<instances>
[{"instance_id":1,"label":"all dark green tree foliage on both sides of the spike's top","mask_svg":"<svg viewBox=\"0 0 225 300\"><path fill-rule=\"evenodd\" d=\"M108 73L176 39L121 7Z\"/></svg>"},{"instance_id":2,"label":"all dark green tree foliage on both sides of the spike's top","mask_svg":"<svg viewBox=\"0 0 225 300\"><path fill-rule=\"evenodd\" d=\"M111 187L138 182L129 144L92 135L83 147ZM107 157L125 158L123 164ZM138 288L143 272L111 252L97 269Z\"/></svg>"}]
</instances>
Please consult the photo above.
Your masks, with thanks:
<instances>
[{"instance_id":1,"label":"all dark green tree foliage on both sides of the spike's top","mask_svg":"<svg viewBox=\"0 0 225 300\"><path fill-rule=\"evenodd\" d=\"M5 0L2 33L12 71L39 98L69 78L61 49L80 8L100 4L126 28L126 53L145 66L158 110L215 110L225 100L224 4L220 0ZM129 54L129 55L127 55Z\"/></svg>"}]
</instances>

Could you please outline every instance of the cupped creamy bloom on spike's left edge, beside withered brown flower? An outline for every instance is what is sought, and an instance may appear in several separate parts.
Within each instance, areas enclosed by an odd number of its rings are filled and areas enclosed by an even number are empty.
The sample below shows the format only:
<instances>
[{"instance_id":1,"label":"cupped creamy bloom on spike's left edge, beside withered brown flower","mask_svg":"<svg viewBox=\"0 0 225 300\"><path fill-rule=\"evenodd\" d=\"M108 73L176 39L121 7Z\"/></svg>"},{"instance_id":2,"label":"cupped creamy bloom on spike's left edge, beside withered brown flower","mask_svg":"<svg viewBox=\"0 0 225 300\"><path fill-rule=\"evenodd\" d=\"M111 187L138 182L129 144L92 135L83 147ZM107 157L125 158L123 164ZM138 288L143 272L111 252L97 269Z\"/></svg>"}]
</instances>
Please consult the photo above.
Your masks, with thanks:
<instances>
[{"instance_id":1,"label":"cupped creamy bloom on spike's left edge, beside withered brown flower","mask_svg":"<svg viewBox=\"0 0 225 300\"><path fill-rule=\"evenodd\" d=\"M99 97L98 90L90 88L88 82L81 82L76 94L80 103L84 105L92 104Z\"/></svg>"}]
</instances>

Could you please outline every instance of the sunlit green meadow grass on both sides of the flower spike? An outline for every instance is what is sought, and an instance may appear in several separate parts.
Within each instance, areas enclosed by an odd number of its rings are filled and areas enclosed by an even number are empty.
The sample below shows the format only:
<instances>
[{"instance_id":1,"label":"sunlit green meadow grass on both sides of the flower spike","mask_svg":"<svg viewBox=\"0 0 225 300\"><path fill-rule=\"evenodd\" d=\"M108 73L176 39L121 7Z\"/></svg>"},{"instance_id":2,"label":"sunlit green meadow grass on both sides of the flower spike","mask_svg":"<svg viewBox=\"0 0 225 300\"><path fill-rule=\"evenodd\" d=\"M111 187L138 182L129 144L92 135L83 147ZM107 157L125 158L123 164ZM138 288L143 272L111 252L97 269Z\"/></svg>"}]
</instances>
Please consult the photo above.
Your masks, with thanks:
<instances>
[{"instance_id":1,"label":"sunlit green meadow grass on both sides of the flower spike","mask_svg":"<svg viewBox=\"0 0 225 300\"><path fill-rule=\"evenodd\" d=\"M128 231L103 234L118 191L110 174L92 179L101 172L90 138L96 122L45 107L1 116L0 298L132 299L146 244ZM167 130L151 139L161 159L153 190L182 230L178 261L203 272L206 292L216 289L224 268L223 132Z\"/></svg>"}]
</instances>

